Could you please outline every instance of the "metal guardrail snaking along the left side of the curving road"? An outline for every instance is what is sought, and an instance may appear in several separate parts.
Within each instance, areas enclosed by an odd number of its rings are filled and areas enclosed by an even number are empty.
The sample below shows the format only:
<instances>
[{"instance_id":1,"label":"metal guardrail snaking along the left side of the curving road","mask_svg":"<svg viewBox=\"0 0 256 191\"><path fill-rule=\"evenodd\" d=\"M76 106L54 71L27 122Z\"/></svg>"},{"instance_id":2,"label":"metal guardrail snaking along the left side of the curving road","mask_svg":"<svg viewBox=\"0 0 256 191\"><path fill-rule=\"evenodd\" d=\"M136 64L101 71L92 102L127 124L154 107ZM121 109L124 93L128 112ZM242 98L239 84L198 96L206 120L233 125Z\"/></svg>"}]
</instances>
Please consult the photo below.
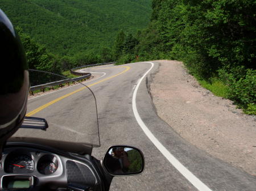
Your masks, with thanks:
<instances>
[{"instance_id":1,"label":"metal guardrail snaking along the left side of the curving road","mask_svg":"<svg viewBox=\"0 0 256 191\"><path fill-rule=\"evenodd\" d=\"M63 87L64 83L68 83L68 86L69 86L69 83L71 83L71 82L75 83L75 81L84 81L86 79L90 79L92 74L90 74L90 73L79 73L79 72L74 71L74 70L82 69L82 68L85 68L85 67L109 65L109 64L112 64L112 63L117 63L117 62L96 63L94 65L85 65L85 66L75 67L75 68L70 70L71 73L73 75L80 75L81 77L71 78L71 79L63 79L63 80L59 80L59 81L56 81L56 82L50 82L50 83L40 84L38 86L32 86L32 87L30 87L30 94L34 95L33 91L36 91L36 90L41 90L41 91L44 92L46 88L52 88L52 90L54 90L53 86Z\"/></svg>"}]
</instances>

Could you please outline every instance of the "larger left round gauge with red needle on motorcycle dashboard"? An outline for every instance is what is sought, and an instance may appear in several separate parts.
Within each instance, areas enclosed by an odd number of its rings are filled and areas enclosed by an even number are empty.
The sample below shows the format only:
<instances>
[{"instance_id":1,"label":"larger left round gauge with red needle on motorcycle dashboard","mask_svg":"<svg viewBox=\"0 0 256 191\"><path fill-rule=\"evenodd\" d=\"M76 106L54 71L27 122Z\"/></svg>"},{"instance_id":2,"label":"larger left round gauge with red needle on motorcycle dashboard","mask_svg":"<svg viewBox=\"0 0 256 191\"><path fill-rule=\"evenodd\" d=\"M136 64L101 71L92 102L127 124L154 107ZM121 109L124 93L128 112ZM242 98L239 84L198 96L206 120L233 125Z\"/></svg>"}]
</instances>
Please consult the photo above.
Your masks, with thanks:
<instances>
[{"instance_id":1,"label":"larger left round gauge with red needle on motorcycle dashboard","mask_svg":"<svg viewBox=\"0 0 256 191\"><path fill-rule=\"evenodd\" d=\"M7 173L32 173L35 170L34 160L30 156L18 155L8 159L5 164Z\"/></svg>"}]
</instances>

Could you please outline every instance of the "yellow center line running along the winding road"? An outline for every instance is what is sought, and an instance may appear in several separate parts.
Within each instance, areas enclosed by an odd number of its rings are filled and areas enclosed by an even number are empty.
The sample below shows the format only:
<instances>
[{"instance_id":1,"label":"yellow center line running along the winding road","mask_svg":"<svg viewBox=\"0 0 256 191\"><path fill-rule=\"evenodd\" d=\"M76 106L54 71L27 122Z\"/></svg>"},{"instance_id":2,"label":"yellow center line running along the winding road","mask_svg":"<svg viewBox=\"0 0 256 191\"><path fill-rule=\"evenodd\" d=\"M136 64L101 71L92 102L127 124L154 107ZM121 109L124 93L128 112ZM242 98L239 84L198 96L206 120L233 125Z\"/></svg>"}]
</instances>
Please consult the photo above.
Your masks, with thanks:
<instances>
[{"instance_id":1,"label":"yellow center line running along the winding road","mask_svg":"<svg viewBox=\"0 0 256 191\"><path fill-rule=\"evenodd\" d=\"M121 74L123 74L123 73L126 73L126 71L130 70L130 67L129 67L129 66L118 66L118 67L124 67L124 68L126 68L126 69L123 70L121 73L118 73L118 74L113 75L112 77L108 77L108 78L102 79L102 80L100 80L100 81L98 81L98 82L95 82L95 83L93 83L93 84L90 84L88 87L92 87L92 86L94 86L94 85L96 85L96 84L98 84L98 83L104 82L104 81L109 80L109 79L114 78L114 77L117 77L118 75L121 75ZM112 68L116 68L116 67L112 67ZM60 100L64 99L65 97L71 96L71 95L73 95L73 94L76 94L77 92L80 92L81 90L84 90L84 88L86 88L86 87L82 87L82 88L80 88L80 89L78 89L78 90L76 90L76 91L73 91L73 92L71 92L71 93L69 93L69 94L66 94L66 95L64 95L64 96L61 96L61 97L55 99L55 100L52 100L52 101L50 101L49 103L44 104L44 105L40 106L39 108L36 108L35 110L33 110L33 111L27 113L26 116L27 116L27 117L30 117L30 116L34 115L35 113L38 113L38 112L42 111L44 108L47 108L49 105L52 105L52 104L56 103L57 101L60 101Z\"/></svg>"}]
</instances>

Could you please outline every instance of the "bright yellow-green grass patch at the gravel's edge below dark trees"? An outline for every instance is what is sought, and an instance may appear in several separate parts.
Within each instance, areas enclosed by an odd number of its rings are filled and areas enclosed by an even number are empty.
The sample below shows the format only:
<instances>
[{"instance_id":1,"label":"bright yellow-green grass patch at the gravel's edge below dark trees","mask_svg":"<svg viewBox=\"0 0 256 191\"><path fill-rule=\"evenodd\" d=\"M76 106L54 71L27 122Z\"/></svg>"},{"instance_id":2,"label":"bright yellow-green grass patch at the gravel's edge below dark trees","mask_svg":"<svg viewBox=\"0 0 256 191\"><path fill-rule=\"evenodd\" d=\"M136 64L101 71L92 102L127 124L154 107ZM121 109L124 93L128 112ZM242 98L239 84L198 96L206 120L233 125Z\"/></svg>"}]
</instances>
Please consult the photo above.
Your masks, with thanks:
<instances>
[{"instance_id":1,"label":"bright yellow-green grass patch at the gravel's edge below dark trees","mask_svg":"<svg viewBox=\"0 0 256 191\"><path fill-rule=\"evenodd\" d=\"M201 86L210 90L214 95L228 99L229 87L220 79L213 78L210 82L204 79L197 79Z\"/></svg>"}]
</instances>

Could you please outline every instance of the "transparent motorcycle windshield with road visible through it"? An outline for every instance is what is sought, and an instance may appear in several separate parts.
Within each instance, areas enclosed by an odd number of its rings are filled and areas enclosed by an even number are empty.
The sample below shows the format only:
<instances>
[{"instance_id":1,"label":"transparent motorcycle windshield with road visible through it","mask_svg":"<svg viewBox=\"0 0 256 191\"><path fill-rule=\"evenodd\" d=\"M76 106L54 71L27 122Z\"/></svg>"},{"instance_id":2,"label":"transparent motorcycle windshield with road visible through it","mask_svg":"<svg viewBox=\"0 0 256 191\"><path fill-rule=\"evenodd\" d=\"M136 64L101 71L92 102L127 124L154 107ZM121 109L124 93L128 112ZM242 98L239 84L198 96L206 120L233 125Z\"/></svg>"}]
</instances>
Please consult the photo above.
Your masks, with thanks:
<instances>
[{"instance_id":1,"label":"transparent motorcycle windshield with road visible through it","mask_svg":"<svg viewBox=\"0 0 256 191\"><path fill-rule=\"evenodd\" d=\"M86 148L99 147L96 99L85 85L90 74L68 79L42 71L29 72L26 118L9 142L39 143L80 154ZM42 124L30 117L46 119L48 128L43 130Z\"/></svg>"}]
</instances>

